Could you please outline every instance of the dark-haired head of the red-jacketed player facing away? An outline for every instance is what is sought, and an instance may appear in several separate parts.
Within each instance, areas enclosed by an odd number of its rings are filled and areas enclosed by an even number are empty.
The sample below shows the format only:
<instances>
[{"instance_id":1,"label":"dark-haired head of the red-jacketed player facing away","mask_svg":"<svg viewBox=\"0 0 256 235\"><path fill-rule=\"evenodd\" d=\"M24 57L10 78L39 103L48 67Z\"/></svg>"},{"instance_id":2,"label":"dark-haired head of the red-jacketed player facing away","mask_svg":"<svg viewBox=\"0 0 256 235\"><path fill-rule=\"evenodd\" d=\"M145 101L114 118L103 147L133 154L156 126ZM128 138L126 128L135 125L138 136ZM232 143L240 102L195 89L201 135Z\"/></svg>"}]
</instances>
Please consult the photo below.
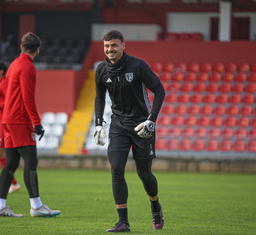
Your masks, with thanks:
<instances>
[{"instance_id":1,"label":"dark-haired head of the red-jacketed player facing away","mask_svg":"<svg viewBox=\"0 0 256 235\"><path fill-rule=\"evenodd\" d=\"M28 32L21 38L21 45L23 45L24 51L28 51L28 53L35 53L37 48L41 47L42 42L37 35Z\"/></svg>"}]
</instances>

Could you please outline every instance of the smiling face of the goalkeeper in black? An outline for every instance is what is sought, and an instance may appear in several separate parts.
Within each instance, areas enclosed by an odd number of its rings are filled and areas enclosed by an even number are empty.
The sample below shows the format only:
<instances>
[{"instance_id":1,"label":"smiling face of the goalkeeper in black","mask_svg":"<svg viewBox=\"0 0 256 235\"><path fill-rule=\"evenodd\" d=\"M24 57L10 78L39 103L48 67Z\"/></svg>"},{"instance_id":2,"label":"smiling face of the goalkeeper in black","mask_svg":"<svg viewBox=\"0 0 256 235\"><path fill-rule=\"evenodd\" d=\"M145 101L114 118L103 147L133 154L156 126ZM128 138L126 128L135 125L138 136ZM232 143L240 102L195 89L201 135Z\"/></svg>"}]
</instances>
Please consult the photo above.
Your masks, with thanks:
<instances>
[{"instance_id":1,"label":"smiling face of the goalkeeper in black","mask_svg":"<svg viewBox=\"0 0 256 235\"><path fill-rule=\"evenodd\" d=\"M121 43L119 39L105 40L104 41L104 52L109 58L110 62L114 64L122 58L125 43Z\"/></svg>"}]
</instances>

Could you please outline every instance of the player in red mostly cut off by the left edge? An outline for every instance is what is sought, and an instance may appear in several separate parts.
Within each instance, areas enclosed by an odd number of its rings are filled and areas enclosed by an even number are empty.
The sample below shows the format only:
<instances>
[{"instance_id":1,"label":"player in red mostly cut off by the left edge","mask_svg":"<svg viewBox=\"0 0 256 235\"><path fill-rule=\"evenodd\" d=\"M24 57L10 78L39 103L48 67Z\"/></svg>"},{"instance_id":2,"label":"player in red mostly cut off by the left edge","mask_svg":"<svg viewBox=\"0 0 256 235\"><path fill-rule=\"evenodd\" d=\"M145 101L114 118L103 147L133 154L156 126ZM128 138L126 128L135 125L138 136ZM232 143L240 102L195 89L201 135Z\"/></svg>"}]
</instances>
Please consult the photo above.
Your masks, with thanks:
<instances>
[{"instance_id":1,"label":"player in red mostly cut off by the left edge","mask_svg":"<svg viewBox=\"0 0 256 235\"><path fill-rule=\"evenodd\" d=\"M3 109L4 109L4 99L6 96L6 79L5 74L7 71L7 65L4 61L0 60L0 161L1 161L1 168L4 168L6 163L6 156L4 150L4 130L2 126L2 116L3 116ZM11 182L11 187L9 188L9 193L16 192L21 189L21 185L16 182L15 177Z\"/></svg>"}]
</instances>

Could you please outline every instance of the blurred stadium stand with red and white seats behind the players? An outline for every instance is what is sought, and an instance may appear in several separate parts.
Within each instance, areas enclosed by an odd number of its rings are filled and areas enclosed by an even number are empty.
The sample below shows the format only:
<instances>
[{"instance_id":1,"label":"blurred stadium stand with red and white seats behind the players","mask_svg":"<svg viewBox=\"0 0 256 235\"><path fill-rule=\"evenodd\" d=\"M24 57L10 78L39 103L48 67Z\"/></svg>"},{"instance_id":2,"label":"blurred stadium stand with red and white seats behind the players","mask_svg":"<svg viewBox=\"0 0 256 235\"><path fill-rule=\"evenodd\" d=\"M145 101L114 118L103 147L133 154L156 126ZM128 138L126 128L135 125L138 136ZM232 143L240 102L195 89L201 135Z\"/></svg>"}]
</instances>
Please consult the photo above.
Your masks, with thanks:
<instances>
[{"instance_id":1,"label":"blurred stadium stand with red and white seats behind the players","mask_svg":"<svg viewBox=\"0 0 256 235\"><path fill-rule=\"evenodd\" d=\"M95 68L111 29L166 90L155 169L256 172L255 0L0 0L0 60L18 57L28 31L43 43L38 167L109 168L93 133ZM110 115L107 96L106 131Z\"/></svg>"}]
</instances>

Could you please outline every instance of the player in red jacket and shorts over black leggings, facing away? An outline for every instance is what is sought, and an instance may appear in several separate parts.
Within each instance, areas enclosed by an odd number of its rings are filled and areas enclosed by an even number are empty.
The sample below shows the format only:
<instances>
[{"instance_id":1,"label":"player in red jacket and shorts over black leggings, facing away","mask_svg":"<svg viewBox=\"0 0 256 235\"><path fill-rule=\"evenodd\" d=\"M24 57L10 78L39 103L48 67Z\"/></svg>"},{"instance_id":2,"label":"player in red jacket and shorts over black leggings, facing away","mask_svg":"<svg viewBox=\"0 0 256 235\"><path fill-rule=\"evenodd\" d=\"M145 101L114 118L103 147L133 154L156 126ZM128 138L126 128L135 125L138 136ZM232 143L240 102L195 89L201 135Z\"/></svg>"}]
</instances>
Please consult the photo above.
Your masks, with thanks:
<instances>
[{"instance_id":1,"label":"player in red jacket and shorts over black leggings, facing away","mask_svg":"<svg viewBox=\"0 0 256 235\"><path fill-rule=\"evenodd\" d=\"M0 216L23 217L6 207L6 197L18 168L24 160L24 182L31 202L32 217L55 217L58 210L51 210L41 202L38 192L36 135L43 137L44 129L36 109L36 68L33 60L40 52L41 39L26 33L21 39L21 55L11 63L6 73L6 99L3 112L4 147L6 164L0 175Z\"/></svg>"}]
</instances>

